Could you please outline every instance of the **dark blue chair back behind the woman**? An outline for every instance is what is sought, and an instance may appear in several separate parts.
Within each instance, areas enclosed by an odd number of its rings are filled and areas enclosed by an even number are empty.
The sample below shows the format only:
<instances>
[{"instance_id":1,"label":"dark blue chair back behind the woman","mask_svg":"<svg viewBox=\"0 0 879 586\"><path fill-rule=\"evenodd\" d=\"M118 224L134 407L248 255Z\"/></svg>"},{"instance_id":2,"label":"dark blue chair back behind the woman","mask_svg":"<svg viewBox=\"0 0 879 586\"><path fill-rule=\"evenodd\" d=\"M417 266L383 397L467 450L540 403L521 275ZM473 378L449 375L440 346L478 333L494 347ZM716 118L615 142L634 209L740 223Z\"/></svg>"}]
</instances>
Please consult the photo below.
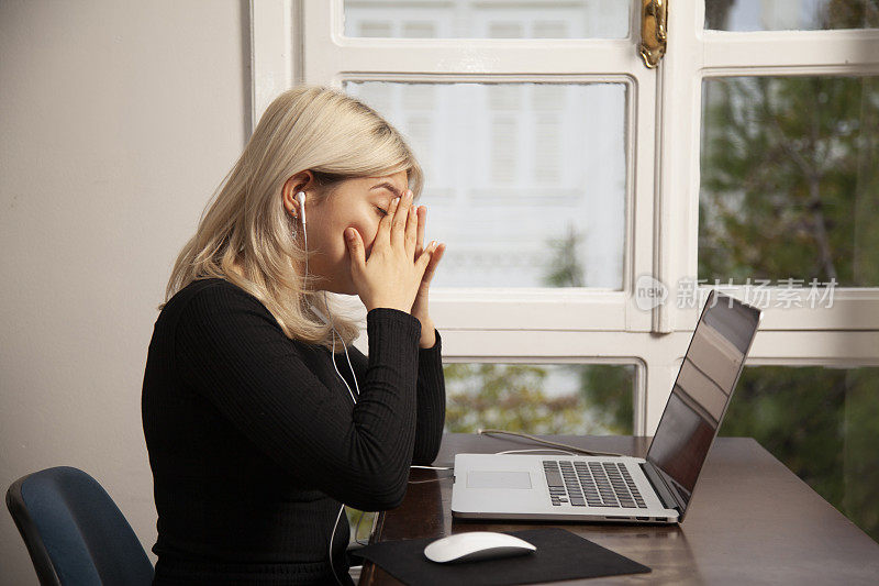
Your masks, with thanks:
<instances>
[{"instance_id":1,"label":"dark blue chair back behind the woman","mask_svg":"<svg viewBox=\"0 0 879 586\"><path fill-rule=\"evenodd\" d=\"M23 476L7 507L27 545L40 584L149 585L153 564L110 495L69 466Z\"/></svg>"}]
</instances>

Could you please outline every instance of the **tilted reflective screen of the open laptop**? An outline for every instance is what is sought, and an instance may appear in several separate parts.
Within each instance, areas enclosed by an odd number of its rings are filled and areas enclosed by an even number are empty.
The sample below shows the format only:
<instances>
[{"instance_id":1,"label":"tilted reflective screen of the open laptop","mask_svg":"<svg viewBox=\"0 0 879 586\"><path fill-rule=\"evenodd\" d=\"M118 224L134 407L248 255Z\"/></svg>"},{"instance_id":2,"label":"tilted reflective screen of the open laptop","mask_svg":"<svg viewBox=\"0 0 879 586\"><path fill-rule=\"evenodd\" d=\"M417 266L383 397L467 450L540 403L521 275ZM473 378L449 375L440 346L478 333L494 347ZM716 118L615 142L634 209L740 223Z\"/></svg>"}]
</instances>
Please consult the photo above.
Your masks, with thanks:
<instances>
[{"instance_id":1,"label":"tilted reflective screen of the open laptop","mask_svg":"<svg viewBox=\"0 0 879 586\"><path fill-rule=\"evenodd\" d=\"M760 311L711 291L647 452L682 505L690 501L726 412Z\"/></svg>"}]
</instances>

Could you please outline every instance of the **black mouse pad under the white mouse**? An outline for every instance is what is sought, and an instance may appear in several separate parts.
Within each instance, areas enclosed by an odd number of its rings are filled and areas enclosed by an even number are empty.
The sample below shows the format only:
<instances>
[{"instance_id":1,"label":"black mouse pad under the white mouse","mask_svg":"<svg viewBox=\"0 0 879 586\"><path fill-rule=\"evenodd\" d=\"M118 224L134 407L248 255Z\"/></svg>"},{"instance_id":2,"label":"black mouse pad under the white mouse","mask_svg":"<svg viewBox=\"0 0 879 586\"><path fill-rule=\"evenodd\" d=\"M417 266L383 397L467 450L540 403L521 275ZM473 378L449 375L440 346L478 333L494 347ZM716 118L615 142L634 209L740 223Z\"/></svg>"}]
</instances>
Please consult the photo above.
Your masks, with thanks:
<instances>
[{"instance_id":1,"label":"black mouse pad under the white mouse","mask_svg":"<svg viewBox=\"0 0 879 586\"><path fill-rule=\"evenodd\" d=\"M431 538L382 541L352 554L378 564L404 584L419 586L534 584L650 572L649 567L565 529L530 529L509 534L524 539L537 551L516 557L437 564L424 556L424 548L437 539Z\"/></svg>"}]
</instances>

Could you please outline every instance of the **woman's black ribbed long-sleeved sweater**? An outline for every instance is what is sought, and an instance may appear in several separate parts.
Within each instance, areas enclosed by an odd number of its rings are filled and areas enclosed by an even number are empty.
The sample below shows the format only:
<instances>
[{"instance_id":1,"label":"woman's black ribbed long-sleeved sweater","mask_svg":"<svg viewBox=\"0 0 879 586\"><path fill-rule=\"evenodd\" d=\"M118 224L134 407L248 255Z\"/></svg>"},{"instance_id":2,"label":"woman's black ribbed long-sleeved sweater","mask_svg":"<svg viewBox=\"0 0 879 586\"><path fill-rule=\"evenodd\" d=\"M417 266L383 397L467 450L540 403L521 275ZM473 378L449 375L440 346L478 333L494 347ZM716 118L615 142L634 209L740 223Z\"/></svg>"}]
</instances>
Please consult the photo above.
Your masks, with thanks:
<instances>
[{"instance_id":1,"label":"woman's black ribbed long-sleeved sweater","mask_svg":"<svg viewBox=\"0 0 879 586\"><path fill-rule=\"evenodd\" d=\"M439 449L441 340L419 349L421 322L396 309L372 309L366 322L369 357L348 349L355 406L331 352L286 338L235 285L197 280L168 301L142 396L154 584L332 584L341 504L400 504L409 466ZM356 392L345 353L335 362ZM333 566L345 582L348 533L343 515Z\"/></svg>"}]
</instances>

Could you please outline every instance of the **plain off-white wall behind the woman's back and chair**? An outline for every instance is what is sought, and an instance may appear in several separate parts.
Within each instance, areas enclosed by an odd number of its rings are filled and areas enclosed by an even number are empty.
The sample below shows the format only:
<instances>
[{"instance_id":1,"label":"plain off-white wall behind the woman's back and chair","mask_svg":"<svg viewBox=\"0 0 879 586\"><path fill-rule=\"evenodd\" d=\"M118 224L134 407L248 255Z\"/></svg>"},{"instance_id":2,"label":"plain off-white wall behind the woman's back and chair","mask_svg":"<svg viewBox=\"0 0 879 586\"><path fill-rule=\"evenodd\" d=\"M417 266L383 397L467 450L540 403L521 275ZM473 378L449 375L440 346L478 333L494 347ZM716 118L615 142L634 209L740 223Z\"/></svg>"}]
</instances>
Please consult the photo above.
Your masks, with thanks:
<instances>
[{"instance_id":1,"label":"plain off-white wall behind the woman's back and chair","mask_svg":"<svg viewBox=\"0 0 879 586\"><path fill-rule=\"evenodd\" d=\"M248 133L247 30L246 0L0 0L0 488L82 468L147 552L144 361ZM36 584L5 510L0 584Z\"/></svg>"}]
</instances>

